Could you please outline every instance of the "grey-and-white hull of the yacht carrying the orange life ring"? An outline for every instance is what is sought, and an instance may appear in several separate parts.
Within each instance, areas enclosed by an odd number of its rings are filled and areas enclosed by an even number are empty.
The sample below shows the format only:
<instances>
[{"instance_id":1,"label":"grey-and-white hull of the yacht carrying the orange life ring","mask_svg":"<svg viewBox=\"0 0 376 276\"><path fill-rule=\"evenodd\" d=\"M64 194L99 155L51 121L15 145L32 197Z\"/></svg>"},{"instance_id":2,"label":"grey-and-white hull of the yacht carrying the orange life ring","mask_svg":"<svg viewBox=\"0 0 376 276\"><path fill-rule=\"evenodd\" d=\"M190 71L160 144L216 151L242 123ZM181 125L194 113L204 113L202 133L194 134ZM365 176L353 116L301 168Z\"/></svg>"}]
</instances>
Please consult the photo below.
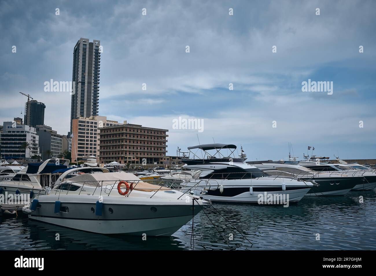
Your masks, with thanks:
<instances>
[{"instance_id":1,"label":"grey-and-white hull of the yacht carrying the orange life ring","mask_svg":"<svg viewBox=\"0 0 376 276\"><path fill-rule=\"evenodd\" d=\"M47 197L48 202L44 201ZM171 236L195 216L201 207L194 204L123 204L103 203L102 216L96 216L97 196L86 202L69 201L69 195L56 197L61 211L54 213L55 196L39 197L38 207L29 214L32 220L99 234ZM105 197L104 197L105 198ZM91 201L91 202L87 202ZM105 201L108 201L105 198ZM110 201L109 201L110 202ZM201 204L200 204L201 205ZM62 211L63 210L63 211ZM68 211L68 212L66 212Z\"/></svg>"}]
</instances>

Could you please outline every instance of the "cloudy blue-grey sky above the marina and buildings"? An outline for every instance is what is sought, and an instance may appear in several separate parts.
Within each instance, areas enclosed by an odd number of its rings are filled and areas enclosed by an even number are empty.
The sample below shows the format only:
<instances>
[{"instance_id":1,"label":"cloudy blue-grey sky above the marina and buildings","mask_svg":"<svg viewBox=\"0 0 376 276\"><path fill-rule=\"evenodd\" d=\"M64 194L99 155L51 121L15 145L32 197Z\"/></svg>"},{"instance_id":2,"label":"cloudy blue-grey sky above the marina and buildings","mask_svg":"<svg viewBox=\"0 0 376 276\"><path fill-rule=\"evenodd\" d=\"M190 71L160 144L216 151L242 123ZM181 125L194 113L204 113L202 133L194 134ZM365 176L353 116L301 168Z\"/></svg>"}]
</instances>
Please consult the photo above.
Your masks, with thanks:
<instances>
[{"instance_id":1,"label":"cloudy blue-grey sky above the marina and buildings","mask_svg":"<svg viewBox=\"0 0 376 276\"><path fill-rule=\"evenodd\" d=\"M300 158L307 146L376 158L375 9L354 0L3 0L0 122L24 113L24 92L67 134L71 96L44 92L44 82L72 80L82 37L103 45L99 115L168 129L168 155L199 139L242 145L249 160L286 160L288 142ZM308 79L333 81L333 94L302 92ZM203 131L173 129L179 116L203 120Z\"/></svg>"}]
</instances>

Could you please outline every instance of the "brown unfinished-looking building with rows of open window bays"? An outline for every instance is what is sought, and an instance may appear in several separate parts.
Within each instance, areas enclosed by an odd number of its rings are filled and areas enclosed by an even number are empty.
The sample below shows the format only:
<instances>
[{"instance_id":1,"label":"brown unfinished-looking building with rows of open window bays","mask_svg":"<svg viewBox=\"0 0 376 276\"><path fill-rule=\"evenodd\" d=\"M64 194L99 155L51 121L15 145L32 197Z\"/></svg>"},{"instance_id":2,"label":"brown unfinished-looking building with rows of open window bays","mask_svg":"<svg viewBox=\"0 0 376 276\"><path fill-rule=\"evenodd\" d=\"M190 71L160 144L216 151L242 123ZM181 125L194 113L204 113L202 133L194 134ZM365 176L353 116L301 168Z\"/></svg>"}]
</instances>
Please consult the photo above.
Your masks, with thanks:
<instances>
[{"instance_id":1,"label":"brown unfinished-looking building with rows of open window bays","mask_svg":"<svg viewBox=\"0 0 376 276\"><path fill-rule=\"evenodd\" d=\"M165 164L167 132L161 128L124 124L106 126L99 133L99 162L121 164Z\"/></svg>"}]
</instances>

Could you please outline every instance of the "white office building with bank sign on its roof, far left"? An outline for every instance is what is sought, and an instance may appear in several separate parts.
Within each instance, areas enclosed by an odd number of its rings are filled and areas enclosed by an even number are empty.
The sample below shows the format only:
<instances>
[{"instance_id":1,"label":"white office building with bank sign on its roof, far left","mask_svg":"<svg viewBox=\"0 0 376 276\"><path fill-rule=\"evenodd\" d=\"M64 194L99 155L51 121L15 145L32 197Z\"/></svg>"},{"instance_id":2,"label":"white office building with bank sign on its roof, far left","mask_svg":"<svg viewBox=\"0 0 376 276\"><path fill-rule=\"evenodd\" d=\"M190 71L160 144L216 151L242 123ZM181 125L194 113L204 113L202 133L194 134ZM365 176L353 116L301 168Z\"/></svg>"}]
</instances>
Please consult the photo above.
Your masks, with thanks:
<instances>
[{"instance_id":1,"label":"white office building with bank sign on its roof, far left","mask_svg":"<svg viewBox=\"0 0 376 276\"><path fill-rule=\"evenodd\" d=\"M0 133L1 158L25 158L25 150L21 149L23 142L30 144L30 148L26 149L26 159L33 155L41 156L39 152L39 136L36 134L35 128L28 125L17 124L16 120L12 122L4 122L3 132Z\"/></svg>"}]
</instances>

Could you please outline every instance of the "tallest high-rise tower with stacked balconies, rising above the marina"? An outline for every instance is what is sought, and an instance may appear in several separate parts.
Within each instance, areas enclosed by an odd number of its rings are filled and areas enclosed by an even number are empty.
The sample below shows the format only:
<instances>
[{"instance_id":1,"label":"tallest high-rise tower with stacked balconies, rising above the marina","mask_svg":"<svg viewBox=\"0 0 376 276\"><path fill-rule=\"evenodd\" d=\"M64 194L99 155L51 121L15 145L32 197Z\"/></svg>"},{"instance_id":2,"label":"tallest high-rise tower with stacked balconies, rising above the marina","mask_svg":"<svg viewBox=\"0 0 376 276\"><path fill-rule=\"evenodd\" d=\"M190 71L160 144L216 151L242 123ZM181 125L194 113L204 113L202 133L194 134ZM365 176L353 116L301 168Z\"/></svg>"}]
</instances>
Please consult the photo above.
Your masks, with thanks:
<instances>
[{"instance_id":1,"label":"tallest high-rise tower with stacked balconies, rising above the marina","mask_svg":"<svg viewBox=\"0 0 376 276\"><path fill-rule=\"evenodd\" d=\"M74 92L71 99L71 133L73 119L98 115L100 41L80 38L73 49Z\"/></svg>"}]
</instances>

